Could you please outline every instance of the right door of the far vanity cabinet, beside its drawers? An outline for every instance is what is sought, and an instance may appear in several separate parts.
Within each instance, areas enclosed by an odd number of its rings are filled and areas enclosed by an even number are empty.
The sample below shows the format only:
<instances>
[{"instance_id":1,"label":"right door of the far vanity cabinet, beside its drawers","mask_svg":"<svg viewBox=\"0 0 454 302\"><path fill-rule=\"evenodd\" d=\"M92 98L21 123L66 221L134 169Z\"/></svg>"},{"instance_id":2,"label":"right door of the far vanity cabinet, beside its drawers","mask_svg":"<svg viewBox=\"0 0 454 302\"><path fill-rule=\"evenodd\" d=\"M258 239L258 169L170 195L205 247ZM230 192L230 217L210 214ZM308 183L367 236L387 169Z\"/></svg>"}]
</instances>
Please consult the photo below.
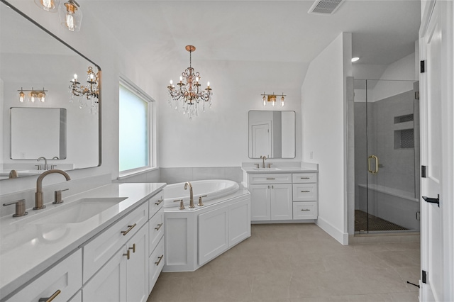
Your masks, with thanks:
<instances>
[{"instance_id":1,"label":"right door of the far vanity cabinet, beside its drawers","mask_svg":"<svg viewBox=\"0 0 454 302\"><path fill-rule=\"evenodd\" d=\"M271 185L271 220L292 220L292 184Z\"/></svg>"}]
</instances>

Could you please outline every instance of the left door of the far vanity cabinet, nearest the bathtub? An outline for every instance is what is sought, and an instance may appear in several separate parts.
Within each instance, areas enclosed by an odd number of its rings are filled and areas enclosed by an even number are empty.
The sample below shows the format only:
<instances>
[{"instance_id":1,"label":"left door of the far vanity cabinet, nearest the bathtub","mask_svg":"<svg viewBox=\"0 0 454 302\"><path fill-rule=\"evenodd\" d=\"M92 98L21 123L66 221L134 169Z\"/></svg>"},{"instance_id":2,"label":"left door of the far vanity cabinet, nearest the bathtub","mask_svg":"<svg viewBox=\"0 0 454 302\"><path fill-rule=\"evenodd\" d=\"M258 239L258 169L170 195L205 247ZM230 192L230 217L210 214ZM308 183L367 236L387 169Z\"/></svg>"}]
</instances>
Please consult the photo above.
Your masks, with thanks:
<instances>
[{"instance_id":1,"label":"left door of the far vanity cabinet, nearest the bathtub","mask_svg":"<svg viewBox=\"0 0 454 302\"><path fill-rule=\"evenodd\" d=\"M270 220L270 189L269 184L251 184L250 191L250 220Z\"/></svg>"}]
</instances>

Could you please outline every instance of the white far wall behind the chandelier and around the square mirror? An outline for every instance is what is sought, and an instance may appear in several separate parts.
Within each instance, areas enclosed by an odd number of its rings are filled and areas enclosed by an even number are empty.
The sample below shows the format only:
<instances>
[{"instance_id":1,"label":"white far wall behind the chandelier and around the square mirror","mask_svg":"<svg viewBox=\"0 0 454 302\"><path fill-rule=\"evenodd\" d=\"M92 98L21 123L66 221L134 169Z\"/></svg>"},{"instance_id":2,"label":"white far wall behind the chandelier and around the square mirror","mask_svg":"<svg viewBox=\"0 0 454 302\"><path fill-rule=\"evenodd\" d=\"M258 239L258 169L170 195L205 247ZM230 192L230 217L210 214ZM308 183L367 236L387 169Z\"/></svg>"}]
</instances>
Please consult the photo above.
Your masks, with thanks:
<instances>
[{"instance_id":1,"label":"white far wall behind the chandelier and around the square mirror","mask_svg":"<svg viewBox=\"0 0 454 302\"><path fill-rule=\"evenodd\" d=\"M250 63L244 63L250 64ZM175 70L175 79L184 70ZM297 121L297 157L301 160L301 91L294 87L249 86L237 77L236 66L231 62L198 62L193 67L210 82L213 88L213 106L189 121L187 116L167 104L167 89L162 85L160 106L160 167L240 167L248 158L248 111L295 111ZM252 65L251 68L254 68ZM270 62L267 72L282 74L287 64ZM175 82L174 79L174 82ZM263 91L287 95L285 106L263 106ZM285 160L275 160L279 162ZM270 160L271 162L271 160Z\"/></svg>"}]
</instances>

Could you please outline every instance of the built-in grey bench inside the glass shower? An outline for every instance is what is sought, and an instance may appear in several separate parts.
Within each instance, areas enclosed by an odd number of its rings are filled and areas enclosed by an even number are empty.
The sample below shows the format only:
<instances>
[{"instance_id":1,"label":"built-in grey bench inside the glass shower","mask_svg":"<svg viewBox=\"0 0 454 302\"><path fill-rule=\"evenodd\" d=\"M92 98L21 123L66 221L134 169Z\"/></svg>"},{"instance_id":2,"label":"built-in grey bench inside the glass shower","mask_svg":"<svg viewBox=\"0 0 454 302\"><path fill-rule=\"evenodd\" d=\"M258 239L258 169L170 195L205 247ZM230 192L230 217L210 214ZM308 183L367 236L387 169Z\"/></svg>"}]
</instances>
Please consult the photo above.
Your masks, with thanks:
<instances>
[{"instance_id":1,"label":"built-in grey bench inside the glass shower","mask_svg":"<svg viewBox=\"0 0 454 302\"><path fill-rule=\"evenodd\" d=\"M369 189L368 192L367 188ZM420 211L419 198L415 198L414 192L389 188L379 184L369 184L368 186L358 184L358 189L359 210L401 225L409 230L419 231L420 221L416 215ZM368 206L367 200L369 201Z\"/></svg>"}]
</instances>

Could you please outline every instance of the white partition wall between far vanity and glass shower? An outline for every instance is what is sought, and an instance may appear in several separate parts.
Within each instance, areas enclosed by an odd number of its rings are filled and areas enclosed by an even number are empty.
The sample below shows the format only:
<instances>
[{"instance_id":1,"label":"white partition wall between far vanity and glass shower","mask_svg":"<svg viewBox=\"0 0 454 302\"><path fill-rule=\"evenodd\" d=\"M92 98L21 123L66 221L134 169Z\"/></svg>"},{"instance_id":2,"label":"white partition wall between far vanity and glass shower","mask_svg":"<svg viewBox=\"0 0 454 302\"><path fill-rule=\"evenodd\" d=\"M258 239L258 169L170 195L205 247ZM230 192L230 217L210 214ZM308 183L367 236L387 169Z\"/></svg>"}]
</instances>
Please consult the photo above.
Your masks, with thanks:
<instances>
[{"instance_id":1,"label":"white partition wall between far vanity and glass shower","mask_svg":"<svg viewBox=\"0 0 454 302\"><path fill-rule=\"evenodd\" d=\"M301 89L303 161L319 163L317 224L343 244L348 243L345 131L351 37L341 33L311 62Z\"/></svg>"}]
</instances>

